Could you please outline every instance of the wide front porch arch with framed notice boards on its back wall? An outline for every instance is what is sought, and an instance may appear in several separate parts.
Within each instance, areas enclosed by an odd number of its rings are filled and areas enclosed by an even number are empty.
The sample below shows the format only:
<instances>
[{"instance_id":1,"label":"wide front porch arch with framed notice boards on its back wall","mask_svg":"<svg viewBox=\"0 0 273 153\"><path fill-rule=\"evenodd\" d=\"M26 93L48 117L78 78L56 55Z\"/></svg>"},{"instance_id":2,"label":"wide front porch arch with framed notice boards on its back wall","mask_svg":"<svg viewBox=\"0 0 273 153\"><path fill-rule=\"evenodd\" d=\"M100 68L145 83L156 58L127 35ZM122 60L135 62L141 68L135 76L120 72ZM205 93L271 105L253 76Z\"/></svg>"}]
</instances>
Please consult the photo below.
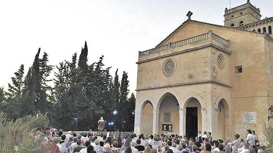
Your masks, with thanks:
<instances>
[{"instance_id":1,"label":"wide front porch arch with framed notice boards on its back wall","mask_svg":"<svg viewBox=\"0 0 273 153\"><path fill-rule=\"evenodd\" d=\"M179 133L179 103L175 96L166 93L160 98L159 133Z\"/></svg>"}]
</instances>

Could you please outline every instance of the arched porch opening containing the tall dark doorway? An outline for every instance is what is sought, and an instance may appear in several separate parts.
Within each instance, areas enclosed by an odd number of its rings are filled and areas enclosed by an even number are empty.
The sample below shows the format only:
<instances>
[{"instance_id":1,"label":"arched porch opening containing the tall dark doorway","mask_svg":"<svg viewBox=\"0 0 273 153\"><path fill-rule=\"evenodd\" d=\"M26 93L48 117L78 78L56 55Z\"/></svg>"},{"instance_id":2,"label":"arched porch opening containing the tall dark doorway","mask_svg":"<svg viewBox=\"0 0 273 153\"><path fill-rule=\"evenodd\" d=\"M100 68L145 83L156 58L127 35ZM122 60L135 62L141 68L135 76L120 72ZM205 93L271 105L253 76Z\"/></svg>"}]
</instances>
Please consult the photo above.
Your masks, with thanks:
<instances>
[{"instance_id":1,"label":"arched porch opening containing the tall dark doorway","mask_svg":"<svg viewBox=\"0 0 273 153\"><path fill-rule=\"evenodd\" d=\"M202 114L200 102L191 97L186 101L186 136L196 137L202 131Z\"/></svg>"}]
</instances>

